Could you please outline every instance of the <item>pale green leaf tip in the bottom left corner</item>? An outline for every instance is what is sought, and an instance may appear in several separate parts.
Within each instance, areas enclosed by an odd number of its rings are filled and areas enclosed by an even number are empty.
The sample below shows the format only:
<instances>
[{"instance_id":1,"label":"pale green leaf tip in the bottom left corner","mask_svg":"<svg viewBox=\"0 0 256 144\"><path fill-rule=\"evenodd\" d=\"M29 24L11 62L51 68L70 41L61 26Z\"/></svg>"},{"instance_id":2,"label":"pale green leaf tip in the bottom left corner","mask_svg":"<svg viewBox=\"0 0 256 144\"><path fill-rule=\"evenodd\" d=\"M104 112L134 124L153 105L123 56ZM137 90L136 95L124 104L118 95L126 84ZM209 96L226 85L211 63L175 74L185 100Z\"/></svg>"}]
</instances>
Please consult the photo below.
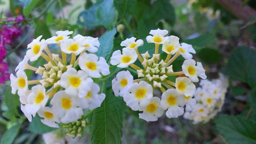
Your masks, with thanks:
<instances>
[{"instance_id":1,"label":"pale green leaf tip in the bottom left corner","mask_svg":"<svg viewBox=\"0 0 256 144\"><path fill-rule=\"evenodd\" d=\"M20 126L21 124L18 123L7 130L1 139L1 144L11 144L17 136Z\"/></svg>"}]
</instances>

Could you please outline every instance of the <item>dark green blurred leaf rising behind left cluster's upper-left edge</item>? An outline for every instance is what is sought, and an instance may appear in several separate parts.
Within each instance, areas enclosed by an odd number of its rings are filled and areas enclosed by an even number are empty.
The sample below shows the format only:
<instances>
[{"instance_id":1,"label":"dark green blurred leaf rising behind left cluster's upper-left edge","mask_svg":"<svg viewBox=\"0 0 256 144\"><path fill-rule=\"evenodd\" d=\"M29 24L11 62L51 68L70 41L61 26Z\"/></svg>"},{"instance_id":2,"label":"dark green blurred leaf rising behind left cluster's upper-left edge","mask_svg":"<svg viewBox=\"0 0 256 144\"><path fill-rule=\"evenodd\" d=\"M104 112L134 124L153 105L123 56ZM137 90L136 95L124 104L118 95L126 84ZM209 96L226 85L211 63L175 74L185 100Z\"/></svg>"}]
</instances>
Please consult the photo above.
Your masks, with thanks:
<instances>
[{"instance_id":1,"label":"dark green blurred leaf rising behind left cluster's upper-left edge","mask_svg":"<svg viewBox=\"0 0 256 144\"><path fill-rule=\"evenodd\" d=\"M48 26L46 25L46 22L42 20L36 21L34 38L37 38L40 35L42 35L41 39L47 39L51 37L51 33Z\"/></svg>"}]
</instances>

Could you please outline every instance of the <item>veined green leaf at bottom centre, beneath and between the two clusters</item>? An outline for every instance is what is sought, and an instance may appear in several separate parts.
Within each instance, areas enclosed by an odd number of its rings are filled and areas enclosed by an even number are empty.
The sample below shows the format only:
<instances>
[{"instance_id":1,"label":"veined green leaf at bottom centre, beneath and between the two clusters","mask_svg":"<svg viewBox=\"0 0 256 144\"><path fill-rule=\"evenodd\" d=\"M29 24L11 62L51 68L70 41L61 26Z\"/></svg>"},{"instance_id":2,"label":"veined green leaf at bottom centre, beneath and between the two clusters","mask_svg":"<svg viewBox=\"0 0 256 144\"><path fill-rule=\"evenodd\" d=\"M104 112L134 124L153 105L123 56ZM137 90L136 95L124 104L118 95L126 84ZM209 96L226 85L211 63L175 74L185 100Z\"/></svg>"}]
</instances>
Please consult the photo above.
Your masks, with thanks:
<instances>
[{"instance_id":1,"label":"veined green leaf at bottom centre, beneath and between the two clusters","mask_svg":"<svg viewBox=\"0 0 256 144\"><path fill-rule=\"evenodd\" d=\"M110 91L91 117L91 143L121 143L123 101Z\"/></svg>"}]
</instances>

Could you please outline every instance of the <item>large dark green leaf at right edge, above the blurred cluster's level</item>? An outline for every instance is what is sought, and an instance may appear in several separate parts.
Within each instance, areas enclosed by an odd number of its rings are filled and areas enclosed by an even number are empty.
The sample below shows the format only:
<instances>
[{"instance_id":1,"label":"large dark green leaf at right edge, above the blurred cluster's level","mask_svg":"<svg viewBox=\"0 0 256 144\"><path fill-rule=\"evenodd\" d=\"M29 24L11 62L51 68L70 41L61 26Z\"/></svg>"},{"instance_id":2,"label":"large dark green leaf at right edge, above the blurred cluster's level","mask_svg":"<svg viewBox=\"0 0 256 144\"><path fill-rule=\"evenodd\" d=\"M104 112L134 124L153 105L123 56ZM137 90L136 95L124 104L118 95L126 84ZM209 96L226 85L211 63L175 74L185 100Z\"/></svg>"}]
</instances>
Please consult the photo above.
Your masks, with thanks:
<instances>
[{"instance_id":1,"label":"large dark green leaf at right edge, above the blurred cluster's level","mask_svg":"<svg viewBox=\"0 0 256 144\"><path fill-rule=\"evenodd\" d=\"M246 46L238 46L229 56L224 68L231 79L256 87L256 52Z\"/></svg>"}]
</instances>

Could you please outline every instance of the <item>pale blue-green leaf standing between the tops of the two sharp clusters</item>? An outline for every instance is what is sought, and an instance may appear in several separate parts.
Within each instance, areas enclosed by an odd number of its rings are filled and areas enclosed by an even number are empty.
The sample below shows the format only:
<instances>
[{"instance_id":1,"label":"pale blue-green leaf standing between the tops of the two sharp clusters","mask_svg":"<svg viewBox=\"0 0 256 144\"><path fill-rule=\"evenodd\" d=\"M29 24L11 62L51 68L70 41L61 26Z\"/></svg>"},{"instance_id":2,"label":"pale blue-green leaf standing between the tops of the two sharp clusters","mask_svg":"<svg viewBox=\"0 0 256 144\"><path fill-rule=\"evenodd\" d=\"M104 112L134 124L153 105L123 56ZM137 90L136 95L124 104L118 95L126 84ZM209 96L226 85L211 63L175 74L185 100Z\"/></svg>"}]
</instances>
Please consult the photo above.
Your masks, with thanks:
<instances>
[{"instance_id":1,"label":"pale blue-green leaf standing between the tops of the two sharp clusters","mask_svg":"<svg viewBox=\"0 0 256 144\"><path fill-rule=\"evenodd\" d=\"M114 37L116 34L116 29L105 32L100 38L99 50L96 53L98 57L105 58L106 61L109 61L111 57L111 52L114 46Z\"/></svg>"}]
</instances>

